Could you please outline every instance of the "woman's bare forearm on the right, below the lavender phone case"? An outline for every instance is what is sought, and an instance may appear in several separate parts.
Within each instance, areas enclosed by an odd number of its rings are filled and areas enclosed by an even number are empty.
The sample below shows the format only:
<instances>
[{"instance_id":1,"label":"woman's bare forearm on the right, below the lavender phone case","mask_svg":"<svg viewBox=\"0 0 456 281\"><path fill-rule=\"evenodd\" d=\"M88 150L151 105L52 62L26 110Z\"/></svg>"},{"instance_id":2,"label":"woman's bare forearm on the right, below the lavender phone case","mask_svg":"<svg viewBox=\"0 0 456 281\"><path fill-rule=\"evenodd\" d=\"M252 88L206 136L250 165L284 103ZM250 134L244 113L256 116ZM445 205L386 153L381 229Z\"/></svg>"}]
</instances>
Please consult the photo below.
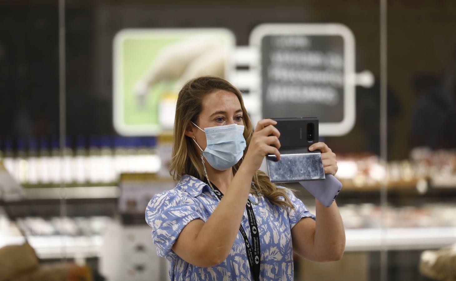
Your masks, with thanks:
<instances>
[{"instance_id":1,"label":"woman's bare forearm on the right, below the lavender phone case","mask_svg":"<svg viewBox=\"0 0 456 281\"><path fill-rule=\"evenodd\" d=\"M345 250L345 229L336 201L328 208L318 199L315 199L315 204L314 247L321 257L339 260Z\"/></svg>"}]
</instances>

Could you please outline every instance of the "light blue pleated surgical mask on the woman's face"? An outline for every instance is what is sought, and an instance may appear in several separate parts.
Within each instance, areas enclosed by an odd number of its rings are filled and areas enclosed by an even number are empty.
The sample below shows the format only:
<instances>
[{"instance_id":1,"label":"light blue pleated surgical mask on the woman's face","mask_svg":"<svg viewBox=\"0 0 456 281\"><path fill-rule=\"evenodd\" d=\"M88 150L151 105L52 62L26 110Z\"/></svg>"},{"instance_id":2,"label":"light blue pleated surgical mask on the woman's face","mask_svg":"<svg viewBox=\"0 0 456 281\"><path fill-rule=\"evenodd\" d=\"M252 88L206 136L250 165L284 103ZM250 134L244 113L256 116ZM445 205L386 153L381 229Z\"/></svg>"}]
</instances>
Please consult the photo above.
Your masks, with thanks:
<instances>
[{"instance_id":1,"label":"light blue pleated surgical mask on the woman's face","mask_svg":"<svg viewBox=\"0 0 456 281\"><path fill-rule=\"evenodd\" d=\"M197 126L195 123L193 125ZM198 129L202 130L200 127ZM244 155L246 147L243 135L244 125L215 126L204 128L202 131L206 133L206 149L203 151L196 140L193 139L193 141L201 149L212 168L225 171L236 165Z\"/></svg>"}]
</instances>

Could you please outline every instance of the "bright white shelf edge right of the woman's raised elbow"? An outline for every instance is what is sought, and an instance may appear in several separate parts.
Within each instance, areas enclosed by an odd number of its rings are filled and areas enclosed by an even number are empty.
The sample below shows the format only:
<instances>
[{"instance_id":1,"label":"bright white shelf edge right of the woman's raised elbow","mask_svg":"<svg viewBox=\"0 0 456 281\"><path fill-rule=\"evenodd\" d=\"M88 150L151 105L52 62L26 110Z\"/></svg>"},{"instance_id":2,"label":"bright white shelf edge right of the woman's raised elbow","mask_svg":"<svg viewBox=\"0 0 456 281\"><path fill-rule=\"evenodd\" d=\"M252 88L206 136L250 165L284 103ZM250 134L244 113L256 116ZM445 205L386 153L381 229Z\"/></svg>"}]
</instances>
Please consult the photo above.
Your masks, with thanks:
<instances>
[{"instance_id":1,"label":"bright white shelf edge right of the woman's raised elbow","mask_svg":"<svg viewBox=\"0 0 456 281\"><path fill-rule=\"evenodd\" d=\"M345 250L377 251L382 246L382 235L388 250L436 249L456 243L456 227L346 229Z\"/></svg>"}]
</instances>

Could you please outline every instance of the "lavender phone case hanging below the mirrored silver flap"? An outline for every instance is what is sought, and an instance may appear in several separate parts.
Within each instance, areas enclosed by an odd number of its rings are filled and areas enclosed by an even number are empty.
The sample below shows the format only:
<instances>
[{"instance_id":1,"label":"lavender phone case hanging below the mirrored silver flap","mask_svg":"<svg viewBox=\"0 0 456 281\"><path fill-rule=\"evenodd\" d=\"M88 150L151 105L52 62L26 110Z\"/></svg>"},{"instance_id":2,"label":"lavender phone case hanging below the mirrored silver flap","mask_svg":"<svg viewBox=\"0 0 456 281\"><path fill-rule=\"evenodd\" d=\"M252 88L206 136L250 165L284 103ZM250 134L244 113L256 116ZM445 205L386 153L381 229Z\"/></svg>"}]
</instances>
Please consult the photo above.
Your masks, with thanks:
<instances>
[{"instance_id":1,"label":"lavender phone case hanging below the mirrored silver flap","mask_svg":"<svg viewBox=\"0 0 456 281\"><path fill-rule=\"evenodd\" d=\"M325 176L324 180L311 180L299 183L317 198L323 206L329 207L341 191L342 183L331 174L326 174Z\"/></svg>"}]
</instances>

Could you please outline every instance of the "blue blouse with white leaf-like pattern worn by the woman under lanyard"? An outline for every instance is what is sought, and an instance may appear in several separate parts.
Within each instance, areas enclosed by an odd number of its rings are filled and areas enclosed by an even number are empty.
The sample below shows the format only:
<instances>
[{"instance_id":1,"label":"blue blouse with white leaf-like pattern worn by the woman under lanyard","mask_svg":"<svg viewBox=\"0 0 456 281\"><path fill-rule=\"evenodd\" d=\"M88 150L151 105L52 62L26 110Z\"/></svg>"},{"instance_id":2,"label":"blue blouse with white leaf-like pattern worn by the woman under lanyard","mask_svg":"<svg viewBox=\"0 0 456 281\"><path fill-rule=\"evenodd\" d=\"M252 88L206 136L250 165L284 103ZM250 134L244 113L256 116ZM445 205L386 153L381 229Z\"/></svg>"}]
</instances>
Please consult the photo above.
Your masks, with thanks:
<instances>
[{"instance_id":1,"label":"blue blouse with white leaf-like pattern worn by the woman under lanyard","mask_svg":"<svg viewBox=\"0 0 456 281\"><path fill-rule=\"evenodd\" d=\"M285 188L285 187L279 187ZM301 218L315 215L307 210L302 201L286 189L295 210L282 208L260 197L259 205L253 209L260 234L260 279L293 280L293 247L291 229ZM254 202L258 197L249 194ZM170 262L171 280L253 280L245 251L244 239L240 232L226 260L213 267L198 267L182 260L171 249L182 229L194 219L206 222L218 205L218 199L210 187L189 175L182 177L174 189L156 194L145 210L145 220L152 227L152 241L157 255ZM247 212L241 222L252 244Z\"/></svg>"}]
</instances>

